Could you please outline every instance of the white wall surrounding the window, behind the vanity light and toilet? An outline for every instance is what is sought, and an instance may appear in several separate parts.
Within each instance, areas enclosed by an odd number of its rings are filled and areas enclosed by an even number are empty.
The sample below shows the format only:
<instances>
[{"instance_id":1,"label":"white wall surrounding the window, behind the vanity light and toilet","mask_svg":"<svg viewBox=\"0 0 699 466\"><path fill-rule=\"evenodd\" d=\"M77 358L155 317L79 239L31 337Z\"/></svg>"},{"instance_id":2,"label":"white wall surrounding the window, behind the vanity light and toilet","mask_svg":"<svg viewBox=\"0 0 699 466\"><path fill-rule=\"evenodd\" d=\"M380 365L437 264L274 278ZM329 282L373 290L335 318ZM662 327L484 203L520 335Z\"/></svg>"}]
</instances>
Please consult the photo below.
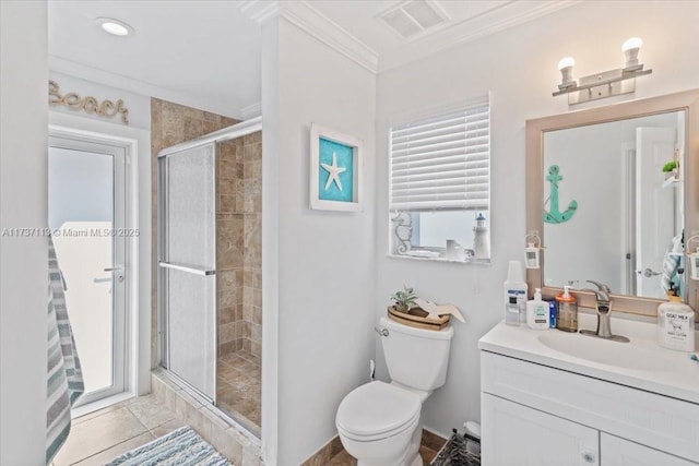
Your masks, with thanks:
<instances>
[{"instance_id":1,"label":"white wall surrounding the window, behind the vanity light and toilet","mask_svg":"<svg viewBox=\"0 0 699 466\"><path fill-rule=\"evenodd\" d=\"M637 81L641 98L696 87L699 2L581 2L512 29L457 46L387 71L377 84L377 250L375 320L403 284L438 302L453 302L455 322L447 384L423 407L428 428L448 434L466 419L479 419L477 340L502 319L502 282L510 259L522 259L525 120L568 111L566 97L552 97L560 82L556 64L566 56L578 76L623 64L621 44L641 36L640 59L653 74ZM493 92L491 266L411 262L386 258L388 228L388 121L393 115L434 109ZM606 105L609 100L593 103ZM377 353L381 348L377 339ZM387 378L382 357L379 374Z\"/></svg>"}]
</instances>

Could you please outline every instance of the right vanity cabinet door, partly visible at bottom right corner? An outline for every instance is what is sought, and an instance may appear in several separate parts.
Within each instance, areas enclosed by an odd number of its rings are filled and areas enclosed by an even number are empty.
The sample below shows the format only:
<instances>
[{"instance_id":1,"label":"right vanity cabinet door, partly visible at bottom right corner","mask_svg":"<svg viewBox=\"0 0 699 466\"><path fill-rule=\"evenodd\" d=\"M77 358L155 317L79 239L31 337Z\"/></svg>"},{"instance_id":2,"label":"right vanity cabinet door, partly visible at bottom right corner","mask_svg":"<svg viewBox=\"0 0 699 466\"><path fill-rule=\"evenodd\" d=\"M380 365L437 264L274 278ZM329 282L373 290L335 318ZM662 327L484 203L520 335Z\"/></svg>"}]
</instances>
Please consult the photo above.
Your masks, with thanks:
<instances>
[{"instance_id":1,"label":"right vanity cabinet door, partly visible at bottom right corner","mask_svg":"<svg viewBox=\"0 0 699 466\"><path fill-rule=\"evenodd\" d=\"M696 466L687 459L602 432L602 466Z\"/></svg>"}]
</instances>

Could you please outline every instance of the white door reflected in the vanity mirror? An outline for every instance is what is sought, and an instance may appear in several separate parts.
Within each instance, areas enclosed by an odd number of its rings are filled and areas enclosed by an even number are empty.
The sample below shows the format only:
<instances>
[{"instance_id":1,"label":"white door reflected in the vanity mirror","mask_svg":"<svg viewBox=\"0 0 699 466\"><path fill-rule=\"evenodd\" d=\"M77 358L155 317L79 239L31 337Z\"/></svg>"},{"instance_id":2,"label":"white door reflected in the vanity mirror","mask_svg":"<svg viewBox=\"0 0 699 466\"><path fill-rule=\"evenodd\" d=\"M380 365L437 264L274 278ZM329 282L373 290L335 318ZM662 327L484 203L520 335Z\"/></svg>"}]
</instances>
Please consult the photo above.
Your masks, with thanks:
<instances>
[{"instance_id":1,"label":"white door reflected in the vanity mirror","mask_svg":"<svg viewBox=\"0 0 699 466\"><path fill-rule=\"evenodd\" d=\"M637 294L664 298L663 259L675 236L675 189L663 188L663 165L673 160L674 128L636 130L636 277Z\"/></svg>"}]
</instances>

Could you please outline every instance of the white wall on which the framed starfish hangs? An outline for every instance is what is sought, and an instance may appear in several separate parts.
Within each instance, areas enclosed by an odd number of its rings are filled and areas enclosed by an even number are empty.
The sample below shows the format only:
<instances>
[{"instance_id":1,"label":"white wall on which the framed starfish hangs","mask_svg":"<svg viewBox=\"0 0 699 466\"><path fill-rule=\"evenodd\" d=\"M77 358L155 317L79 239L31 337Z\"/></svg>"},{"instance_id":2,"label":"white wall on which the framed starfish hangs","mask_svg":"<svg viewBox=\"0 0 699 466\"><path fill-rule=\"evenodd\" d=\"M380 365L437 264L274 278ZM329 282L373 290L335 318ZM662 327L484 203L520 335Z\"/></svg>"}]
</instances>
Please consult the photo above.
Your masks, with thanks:
<instances>
[{"instance_id":1,"label":"white wall on which the framed starfish hangs","mask_svg":"<svg viewBox=\"0 0 699 466\"><path fill-rule=\"evenodd\" d=\"M268 289L279 279L279 321L268 320L275 318L268 295L263 319L265 333L279 324L277 464L285 466L336 435L337 405L368 380L374 357L376 76L286 20L272 21L263 28L263 75L276 73L262 91L263 254L279 246L279 266L265 259L263 279ZM309 208L311 122L364 140L363 212Z\"/></svg>"}]
</instances>

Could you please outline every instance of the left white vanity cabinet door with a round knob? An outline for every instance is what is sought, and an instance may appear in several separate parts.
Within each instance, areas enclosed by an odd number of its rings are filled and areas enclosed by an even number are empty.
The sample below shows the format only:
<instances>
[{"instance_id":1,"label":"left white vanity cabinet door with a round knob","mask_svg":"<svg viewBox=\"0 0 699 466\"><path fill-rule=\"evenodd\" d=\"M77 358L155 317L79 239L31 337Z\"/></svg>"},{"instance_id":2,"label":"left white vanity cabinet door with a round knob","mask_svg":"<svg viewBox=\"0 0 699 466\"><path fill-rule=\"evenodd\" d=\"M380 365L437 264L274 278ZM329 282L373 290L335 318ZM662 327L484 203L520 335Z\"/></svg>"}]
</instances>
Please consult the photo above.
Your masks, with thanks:
<instances>
[{"instance_id":1,"label":"left white vanity cabinet door with a round knob","mask_svg":"<svg viewBox=\"0 0 699 466\"><path fill-rule=\"evenodd\" d=\"M599 431L481 394L483 466L599 466Z\"/></svg>"}]
</instances>

